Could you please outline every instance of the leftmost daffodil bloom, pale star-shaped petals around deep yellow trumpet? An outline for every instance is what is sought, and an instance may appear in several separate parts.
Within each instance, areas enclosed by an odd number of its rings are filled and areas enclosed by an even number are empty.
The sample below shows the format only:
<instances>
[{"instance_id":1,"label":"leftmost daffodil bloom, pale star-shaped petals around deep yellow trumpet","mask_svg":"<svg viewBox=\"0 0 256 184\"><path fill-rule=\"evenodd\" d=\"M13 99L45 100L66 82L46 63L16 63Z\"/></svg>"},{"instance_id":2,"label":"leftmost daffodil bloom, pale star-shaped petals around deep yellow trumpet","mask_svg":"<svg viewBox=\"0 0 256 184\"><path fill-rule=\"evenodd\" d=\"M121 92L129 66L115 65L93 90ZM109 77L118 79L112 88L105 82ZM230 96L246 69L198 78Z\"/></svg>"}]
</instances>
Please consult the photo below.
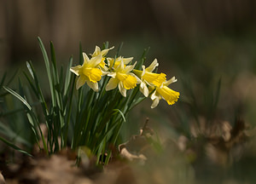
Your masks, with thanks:
<instances>
[{"instance_id":1,"label":"leftmost daffodil bloom, pale star-shaped petals around deep yellow trumpet","mask_svg":"<svg viewBox=\"0 0 256 184\"><path fill-rule=\"evenodd\" d=\"M96 57L89 57L83 53L84 64L82 66L74 66L70 68L70 71L79 76L76 83L76 89L79 89L84 83L87 83L91 89L98 91L98 81L101 80L104 74L98 65L102 61L102 55L96 55Z\"/></svg>"}]
</instances>

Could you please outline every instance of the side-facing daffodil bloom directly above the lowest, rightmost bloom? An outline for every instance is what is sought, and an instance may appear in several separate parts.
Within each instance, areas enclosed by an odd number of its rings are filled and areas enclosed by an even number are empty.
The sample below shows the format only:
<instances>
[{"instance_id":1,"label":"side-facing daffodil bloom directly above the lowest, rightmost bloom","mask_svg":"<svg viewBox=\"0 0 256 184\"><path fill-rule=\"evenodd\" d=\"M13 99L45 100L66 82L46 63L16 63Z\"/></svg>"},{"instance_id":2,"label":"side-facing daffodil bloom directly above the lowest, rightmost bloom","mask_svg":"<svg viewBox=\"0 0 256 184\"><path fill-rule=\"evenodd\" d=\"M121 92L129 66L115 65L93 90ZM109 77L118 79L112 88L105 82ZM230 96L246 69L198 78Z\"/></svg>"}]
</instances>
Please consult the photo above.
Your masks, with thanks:
<instances>
[{"instance_id":1,"label":"side-facing daffodil bloom directly above the lowest, rightmost bloom","mask_svg":"<svg viewBox=\"0 0 256 184\"><path fill-rule=\"evenodd\" d=\"M148 66L147 68L143 66L143 71L133 70L135 74L139 78L141 78L142 83L140 84L140 91L148 97L149 91L147 85L154 85L157 88L160 88L161 85L166 81L166 74L165 73L154 73L154 69L156 66L159 66L159 63L156 59Z\"/></svg>"}]
</instances>

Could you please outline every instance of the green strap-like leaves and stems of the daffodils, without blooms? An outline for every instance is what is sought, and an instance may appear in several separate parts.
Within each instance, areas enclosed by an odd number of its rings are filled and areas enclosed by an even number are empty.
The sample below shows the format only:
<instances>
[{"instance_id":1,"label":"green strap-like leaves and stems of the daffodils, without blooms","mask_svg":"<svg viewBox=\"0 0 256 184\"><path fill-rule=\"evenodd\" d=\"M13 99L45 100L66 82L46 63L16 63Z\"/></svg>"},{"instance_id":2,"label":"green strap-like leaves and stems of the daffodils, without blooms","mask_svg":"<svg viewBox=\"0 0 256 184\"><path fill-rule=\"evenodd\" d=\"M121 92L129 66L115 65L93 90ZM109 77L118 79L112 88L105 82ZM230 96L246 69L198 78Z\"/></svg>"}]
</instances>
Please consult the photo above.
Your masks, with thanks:
<instances>
[{"instance_id":1,"label":"green strap-like leaves and stems of the daffodils, without blooms","mask_svg":"<svg viewBox=\"0 0 256 184\"><path fill-rule=\"evenodd\" d=\"M39 37L38 42L43 53L49 81L49 100L46 100L48 97L43 94L39 82L39 78L44 77L38 76L31 61L26 62L28 73L23 72L30 90L25 90L25 85L21 81L19 81L19 92L9 87L3 88L22 102L22 111L26 114L35 141L46 154L59 152L65 147L77 150L79 147L85 146L97 156L98 161L102 154L108 152L107 162L105 162L108 163L111 155L108 147L117 141L128 112L145 99L139 93L139 86L129 90L125 98L120 95L118 88L105 90L109 77L104 76L99 82L99 92L95 92L87 85L76 90L76 78L69 71L73 65L73 57L70 58L67 68L61 66L60 70L57 66L53 43L50 43L49 59ZM104 49L108 49L108 43L105 43L104 47ZM118 57L119 49L115 58ZM138 61L137 68L142 67L147 51L144 51L142 59ZM81 46L79 55L79 62L82 63ZM1 85L3 85L3 81ZM45 124L46 132L42 129L42 124ZM20 150L9 141L2 138L1 140L16 150ZM43 146L40 141L43 142Z\"/></svg>"}]
</instances>

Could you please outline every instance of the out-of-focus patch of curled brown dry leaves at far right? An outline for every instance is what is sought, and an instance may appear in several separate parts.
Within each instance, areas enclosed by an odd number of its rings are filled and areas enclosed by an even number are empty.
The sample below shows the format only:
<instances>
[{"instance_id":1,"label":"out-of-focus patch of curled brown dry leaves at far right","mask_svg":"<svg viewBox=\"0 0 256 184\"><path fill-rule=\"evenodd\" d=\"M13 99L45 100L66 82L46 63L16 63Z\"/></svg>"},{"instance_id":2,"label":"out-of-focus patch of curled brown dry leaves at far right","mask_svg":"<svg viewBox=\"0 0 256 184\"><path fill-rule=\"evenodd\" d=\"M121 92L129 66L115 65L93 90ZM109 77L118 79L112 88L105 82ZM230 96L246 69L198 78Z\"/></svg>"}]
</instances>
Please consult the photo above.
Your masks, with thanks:
<instances>
[{"instance_id":1,"label":"out-of-focus patch of curled brown dry leaves at far right","mask_svg":"<svg viewBox=\"0 0 256 184\"><path fill-rule=\"evenodd\" d=\"M253 130L247 130L247 124L240 119L236 120L234 126L228 121L213 121L212 124L206 124L205 118L200 118L199 125L191 124L191 134L195 138L204 138L201 146L204 147L207 157L215 164L226 165L240 158L248 135L253 135ZM186 144L183 147L186 147ZM194 150L196 154L201 154L201 149Z\"/></svg>"}]
</instances>

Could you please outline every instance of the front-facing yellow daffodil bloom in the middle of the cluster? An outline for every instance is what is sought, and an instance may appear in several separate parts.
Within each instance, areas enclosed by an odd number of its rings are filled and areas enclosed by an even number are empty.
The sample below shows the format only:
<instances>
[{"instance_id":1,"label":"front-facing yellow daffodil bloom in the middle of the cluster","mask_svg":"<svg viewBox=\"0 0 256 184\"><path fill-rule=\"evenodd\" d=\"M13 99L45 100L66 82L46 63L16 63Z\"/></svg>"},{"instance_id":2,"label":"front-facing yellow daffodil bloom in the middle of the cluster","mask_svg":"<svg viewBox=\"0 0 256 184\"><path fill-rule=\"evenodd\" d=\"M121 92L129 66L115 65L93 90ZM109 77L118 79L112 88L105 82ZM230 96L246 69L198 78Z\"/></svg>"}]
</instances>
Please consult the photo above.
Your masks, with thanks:
<instances>
[{"instance_id":1,"label":"front-facing yellow daffodil bloom in the middle of the cluster","mask_svg":"<svg viewBox=\"0 0 256 184\"><path fill-rule=\"evenodd\" d=\"M114 72L108 73L108 76L112 78L109 79L106 90L115 89L118 86L121 95L126 97L126 90L133 89L137 86L137 83L140 83L140 79L131 73L135 66L136 63L133 66L125 66L124 61L121 60Z\"/></svg>"}]
</instances>

